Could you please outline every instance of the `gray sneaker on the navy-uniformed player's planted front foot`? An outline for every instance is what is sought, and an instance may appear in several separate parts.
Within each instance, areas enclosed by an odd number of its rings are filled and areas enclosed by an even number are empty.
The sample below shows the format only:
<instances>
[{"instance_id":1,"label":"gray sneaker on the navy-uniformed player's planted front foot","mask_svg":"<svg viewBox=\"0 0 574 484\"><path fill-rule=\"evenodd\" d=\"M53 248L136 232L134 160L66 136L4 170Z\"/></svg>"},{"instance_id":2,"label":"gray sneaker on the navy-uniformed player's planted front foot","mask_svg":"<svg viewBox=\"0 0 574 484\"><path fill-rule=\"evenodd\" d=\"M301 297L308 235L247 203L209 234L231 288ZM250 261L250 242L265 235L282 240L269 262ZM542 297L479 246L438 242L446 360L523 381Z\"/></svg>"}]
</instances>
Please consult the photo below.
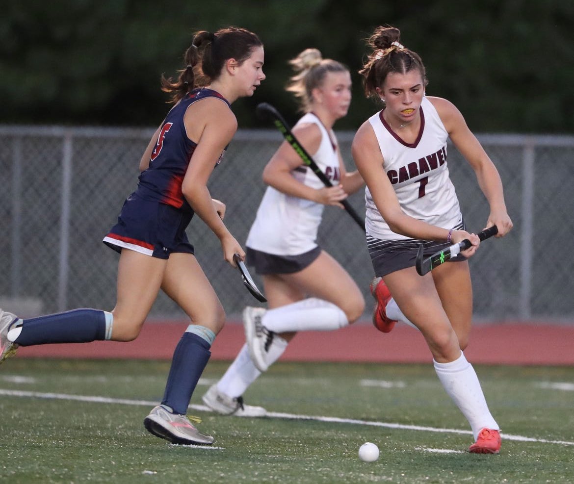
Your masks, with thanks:
<instances>
[{"instance_id":1,"label":"gray sneaker on the navy-uniformed player's planted front foot","mask_svg":"<svg viewBox=\"0 0 574 484\"><path fill-rule=\"evenodd\" d=\"M144 426L153 435L169 440L172 444L211 445L214 442L214 438L210 435L201 434L199 430L192 426L190 420L196 423L201 422L201 419L198 417L188 417L187 415L168 412L161 405L157 405L145 417Z\"/></svg>"}]
</instances>

